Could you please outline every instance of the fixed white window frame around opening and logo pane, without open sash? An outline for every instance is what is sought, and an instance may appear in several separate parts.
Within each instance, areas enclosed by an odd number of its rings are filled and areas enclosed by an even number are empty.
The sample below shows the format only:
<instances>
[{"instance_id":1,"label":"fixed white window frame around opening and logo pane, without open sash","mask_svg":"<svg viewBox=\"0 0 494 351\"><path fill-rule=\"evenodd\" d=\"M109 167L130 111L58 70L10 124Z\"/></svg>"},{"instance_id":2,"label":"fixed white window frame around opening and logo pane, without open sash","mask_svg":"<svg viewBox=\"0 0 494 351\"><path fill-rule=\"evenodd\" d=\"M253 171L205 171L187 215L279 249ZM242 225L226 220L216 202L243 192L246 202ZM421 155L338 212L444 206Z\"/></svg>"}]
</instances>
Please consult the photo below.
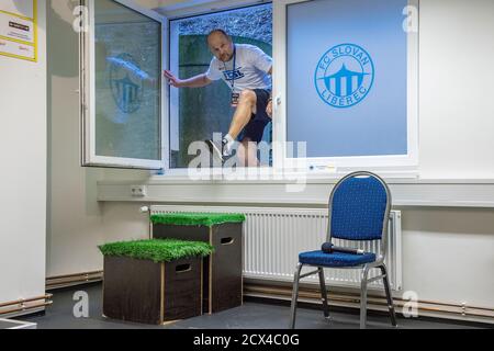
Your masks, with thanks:
<instances>
[{"instance_id":1,"label":"fixed white window frame around opening and logo pane, without open sash","mask_svg":"<svg viewBox=\"0 0 494 351\"><path fill-rule=\"evenodd\" d=\"M269 174L296 174L306 173L311 178L328 177L332 173L346 173L353 170L367 169L371 171L379 171L382 174L390 174L400 178L416 178L418 177L418 152L419 152L419 136L418 136L418 39L419 33L409 32L407 34L408 46L408 61L407 61L407 155L404 156L358 156L358 157L333 157L333 158L290 158L288 157L287 143L287 14L288 5L312 0L277 0L272 1L273 7L273 61L274 69L272 75L273 82L273 121L272 121L272 140L278 147L273 147L272 167L263 167L261 173ZM267 2L262 2L267 3ZM249 2L238 5L218 7L212 11L204 11L203 9L193 12L187 10L182 13L176 11L169 21L179 20L190 16L199 16L204 14L212 14L223 11L242 9L249 5L262 4L259 2ZM419 11L419 0L408 0L408 7L415 7ZM405 15L405 13L404 13ZM404 16L405 20L405 16ZM418 13L417 13L418 21ZM418 24L417 24L418 25ZM170 27L170 25L168 25ZM169 35L171 33L169 32ZM171 37L169 43L171 43ZM169 47L170 48L170 47ZM169 49L169 55L171 49ZM169 102L169 104L171 101ZM171 106L170 106L171 107ZM170 112L171 115L171 112ZM168 117L169 118L169 117ZM169 120L168 120L169 123ZM170 146L171 137L167 141ZM290 146L290 145L289 145ZM169 157L169 156L168 156ZM188 169L165 169L165 176L170 177L186 177ZM204 172L215 177L225 172L221 169L210 168Z\"/></svg>"}]
</instances>

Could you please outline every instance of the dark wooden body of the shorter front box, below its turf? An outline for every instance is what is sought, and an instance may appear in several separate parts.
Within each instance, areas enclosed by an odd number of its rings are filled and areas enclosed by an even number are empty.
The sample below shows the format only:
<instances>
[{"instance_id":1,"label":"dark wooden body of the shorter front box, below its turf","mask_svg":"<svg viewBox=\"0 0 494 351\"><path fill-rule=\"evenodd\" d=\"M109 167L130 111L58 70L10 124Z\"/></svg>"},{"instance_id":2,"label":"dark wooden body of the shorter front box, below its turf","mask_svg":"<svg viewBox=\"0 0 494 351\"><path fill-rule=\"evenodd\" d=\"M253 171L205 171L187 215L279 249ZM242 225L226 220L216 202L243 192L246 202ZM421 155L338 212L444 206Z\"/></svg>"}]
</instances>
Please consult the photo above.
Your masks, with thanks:
<instances>
[{"instance_id":1,"label":"dark wooden body of the shorter front box, below its turf","mask_svg":"<svg viewBox=\"0 0 494 351\"><path fill-rule=\"evenodd\" d=\"M153 325L202 315L202 260L104 257L103 315Z\"/></svg>"}]
</instances>

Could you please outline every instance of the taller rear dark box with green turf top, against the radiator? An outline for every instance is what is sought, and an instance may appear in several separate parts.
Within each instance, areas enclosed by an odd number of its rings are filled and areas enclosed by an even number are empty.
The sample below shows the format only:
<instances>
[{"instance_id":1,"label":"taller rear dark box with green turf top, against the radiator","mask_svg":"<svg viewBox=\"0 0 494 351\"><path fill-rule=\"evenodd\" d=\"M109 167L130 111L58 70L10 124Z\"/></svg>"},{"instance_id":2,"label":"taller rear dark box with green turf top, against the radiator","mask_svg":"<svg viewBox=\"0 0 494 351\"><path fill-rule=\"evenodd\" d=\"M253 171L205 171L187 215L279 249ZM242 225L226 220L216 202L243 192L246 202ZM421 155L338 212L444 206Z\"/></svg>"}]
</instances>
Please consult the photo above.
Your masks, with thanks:
<instances>
[{"instance_id":1,"label":"taller rear dark box with green turf top, against the radiator","mask_svg":"<svg viewBox=\"0 0 494 351\"><path fill-rule=\"evenodd\" d=\"M205 313L243 303L243 214L164 213L151 215L154 238L209 242L214 253L204 260Z\"/></svg>"}]
</instances>

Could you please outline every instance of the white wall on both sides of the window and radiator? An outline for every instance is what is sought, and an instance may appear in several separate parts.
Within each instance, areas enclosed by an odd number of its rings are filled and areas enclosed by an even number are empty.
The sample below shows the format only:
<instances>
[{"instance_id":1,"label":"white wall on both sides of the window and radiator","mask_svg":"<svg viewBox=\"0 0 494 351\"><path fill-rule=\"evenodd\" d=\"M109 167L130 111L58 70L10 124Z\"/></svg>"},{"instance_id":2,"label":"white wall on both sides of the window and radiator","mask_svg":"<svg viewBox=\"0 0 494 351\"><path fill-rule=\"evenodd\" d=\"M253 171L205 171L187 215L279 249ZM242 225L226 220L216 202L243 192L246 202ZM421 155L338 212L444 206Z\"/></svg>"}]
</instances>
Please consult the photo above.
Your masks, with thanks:
<instances>
[{"instance_id":1,"label":"white wall on both sides of the window and radiator","mask_svg":"<svg viewBox=\"0 0 494 351\"><path fill-rule=\"evenodd\" d=\"M494 86L489 79L475 79L475 72L482 77L485 71L492 72L494 2L420 2L420 173L424 178L494 179L494 158L490 155L494 149L494 138L490 136L494 131L494 101L490 98ZM69 21L69 3L53 0L52 15ZM145 179L146 172L79 167L78 141L75 141L79 138L78 101L72 94L77 88L76 48L70 44L75 37L68 25L56 27L53 37L54 44L60 43L59 55L69 59L55 57L50 75L53 167L48 275L102 269L97 245L147 235L147 220L138 213L139 204L98 205L96 202L98 179L135 181ZM64 65L69 73L56 71ZM472 93L479 89L481 93ZM307 191L327 192L324 185L313 186L318 188ZM235 186L217 185L215 191L226 190L235 192ZM404 288L416 291L424 301L467 302L493 308L494 211L401 210Z\"/></svg>"}]
</instances>

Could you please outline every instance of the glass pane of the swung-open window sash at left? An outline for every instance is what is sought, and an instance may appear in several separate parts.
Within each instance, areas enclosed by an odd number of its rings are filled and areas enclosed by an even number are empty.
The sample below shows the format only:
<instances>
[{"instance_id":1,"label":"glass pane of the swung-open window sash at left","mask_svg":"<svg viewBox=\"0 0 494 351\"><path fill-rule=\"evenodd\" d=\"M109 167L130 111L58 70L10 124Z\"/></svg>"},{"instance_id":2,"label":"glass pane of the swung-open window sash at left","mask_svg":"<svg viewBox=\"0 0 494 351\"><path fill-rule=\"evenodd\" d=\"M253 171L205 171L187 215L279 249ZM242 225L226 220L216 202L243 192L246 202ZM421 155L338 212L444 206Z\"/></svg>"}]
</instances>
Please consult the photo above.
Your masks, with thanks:
<instances>
[{"instance_id":1,"label":"glass pane of the swung-open window sash at left","mask_svg":"<svg viewBox=\"0 0 494 351\"><path fill-rule=\"evenodd\" d=\"M111 0L94 5L97 156L160 160L161 25Z\"/></svg>"}]
</instances>

